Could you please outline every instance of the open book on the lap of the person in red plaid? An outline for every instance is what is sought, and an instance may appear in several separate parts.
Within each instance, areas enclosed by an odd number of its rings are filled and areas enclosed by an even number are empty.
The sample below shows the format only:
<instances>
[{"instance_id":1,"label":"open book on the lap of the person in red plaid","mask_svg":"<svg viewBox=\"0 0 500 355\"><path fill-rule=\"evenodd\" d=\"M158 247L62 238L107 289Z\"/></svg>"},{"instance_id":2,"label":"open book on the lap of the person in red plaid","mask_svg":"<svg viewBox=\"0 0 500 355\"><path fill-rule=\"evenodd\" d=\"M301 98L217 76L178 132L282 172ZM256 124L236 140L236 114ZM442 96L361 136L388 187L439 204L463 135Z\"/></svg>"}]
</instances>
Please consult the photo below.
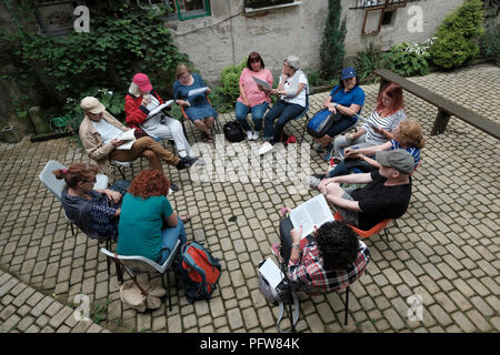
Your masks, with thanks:
<instances>
[{"instance_id":1,"label":"open book on the lap of the person in red plaid","mask_svg":"<svg viewBox=\"0 0 500 355\"><path fill-rule=\"evenodd\" d=\"M306 201L290 212L290 221L293 229L302 225L302 239L314 232L314 225L319 229L323 223L333 221L333 214L323 195L318 195Z\"/></svg>"}]
</instances>

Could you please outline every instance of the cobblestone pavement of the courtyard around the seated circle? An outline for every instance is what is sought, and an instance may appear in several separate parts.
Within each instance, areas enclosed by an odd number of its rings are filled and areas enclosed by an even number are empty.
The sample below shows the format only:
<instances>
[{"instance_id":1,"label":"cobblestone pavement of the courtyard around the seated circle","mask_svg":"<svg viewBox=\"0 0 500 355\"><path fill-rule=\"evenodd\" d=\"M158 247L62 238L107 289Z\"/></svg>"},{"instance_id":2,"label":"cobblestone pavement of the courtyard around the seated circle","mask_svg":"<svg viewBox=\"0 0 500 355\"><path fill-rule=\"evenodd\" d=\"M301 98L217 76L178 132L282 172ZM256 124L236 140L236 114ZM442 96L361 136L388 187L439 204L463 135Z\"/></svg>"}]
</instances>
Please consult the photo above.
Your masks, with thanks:
<instances>
[{"instance_id":1,"label":"cobblestone pavement of the courtyard around the seated circle","mask_svg":"<svg viewBox=\"0 0 500 355\"><path fill-rule=\"evenodd\" d=\"M411 80L499 122L496 67ZM363 89L368 115L378 85ZM311 113L327 94L311 95ZM366 241L372 260L369 275L351 286L349 324L343 326L343 291L301 296L299 332L500 331L498 141L456 118L444 134L430 138L437 109L409 93L404 100L408 115L418 119L427 134L410 207L398 226L390 224L389 241L380 235ZM224 122L232 116L220 118ZM300 124L303 121L292 122L288 130L297 135ZM191 142L201 141L190 124L188 132ZM222 156L222 145L217 144ZM226 143L229 158L216 168L238 171L249 160L254 162L249 146ZM203 151L209 161L208 152ZM312 171L326 168L316 152L307 156ZM211 183L192 182L188 171L164 166L180 186L170 199L174 209L193 216L187 224L188 240L204 241L222 260L223 273L210 302L189 304L174 284L172 311L166 302L140 314L123 307L114 268L108 276L98 243L81 232L71 234L60 202L40 183L38 174L50 159L67 165L89 162L71 140L0 144L0 332L277 332L278 307L258 290L257 264L271 256L270 244L279 241L280 207L293 207L317 194L297 190L282 164L268 166L262 175L252 169L257 176L250 181L221 182L214 175ZM130 170L128 174L131 178ZM153 281L160 282L158 276ZM76 322L71 315L80 304L78 294L90 300L91 322ZM408 317L412 295L422 297L422 321Z\"/></svg>"}]
</instances>

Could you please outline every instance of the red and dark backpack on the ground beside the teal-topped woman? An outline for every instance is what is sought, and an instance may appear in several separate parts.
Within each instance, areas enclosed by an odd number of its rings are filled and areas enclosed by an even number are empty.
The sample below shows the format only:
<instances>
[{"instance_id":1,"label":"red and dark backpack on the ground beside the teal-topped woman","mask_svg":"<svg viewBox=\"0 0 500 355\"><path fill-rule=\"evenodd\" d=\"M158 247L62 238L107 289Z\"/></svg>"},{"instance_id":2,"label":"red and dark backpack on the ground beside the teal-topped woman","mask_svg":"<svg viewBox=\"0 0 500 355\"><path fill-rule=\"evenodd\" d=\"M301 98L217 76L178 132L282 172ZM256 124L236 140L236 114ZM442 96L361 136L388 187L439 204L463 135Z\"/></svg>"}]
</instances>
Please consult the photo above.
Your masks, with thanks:
<instances>
[{"instance_id":1,"label":"red and dark backpack on the ground beside the teal-topped woman","mask_svg":"<svg viewBox=\"0 0 500 355\"><path fill-rule=\"evenodd\" d=\"M179 274L188 301L210 298L220 277L219 260L198 242L184 244L180 257Z\"/></svg>"}]
</instances>

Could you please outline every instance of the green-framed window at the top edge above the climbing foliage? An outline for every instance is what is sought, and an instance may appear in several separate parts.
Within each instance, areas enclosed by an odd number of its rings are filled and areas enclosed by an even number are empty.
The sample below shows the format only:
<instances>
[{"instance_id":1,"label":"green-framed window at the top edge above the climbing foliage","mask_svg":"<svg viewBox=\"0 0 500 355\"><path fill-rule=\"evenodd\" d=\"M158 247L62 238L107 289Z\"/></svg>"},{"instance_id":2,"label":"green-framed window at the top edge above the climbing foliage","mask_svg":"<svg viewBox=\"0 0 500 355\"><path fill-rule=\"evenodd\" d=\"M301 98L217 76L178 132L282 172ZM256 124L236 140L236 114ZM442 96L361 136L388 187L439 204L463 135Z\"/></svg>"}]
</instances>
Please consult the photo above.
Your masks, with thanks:
<instances>
[{"instance_id":1,"label":"green-framed window at the top edge above the climbing foliage","mask_svg":"<svg viewBox=\"0 0 500 355\"><path fill-rule=\"evenodd\" d=\"M141 6L166 4L170 8L169 18L189 20L211 16L210 0L138 0Z\"/></svg>"}]
</instances>

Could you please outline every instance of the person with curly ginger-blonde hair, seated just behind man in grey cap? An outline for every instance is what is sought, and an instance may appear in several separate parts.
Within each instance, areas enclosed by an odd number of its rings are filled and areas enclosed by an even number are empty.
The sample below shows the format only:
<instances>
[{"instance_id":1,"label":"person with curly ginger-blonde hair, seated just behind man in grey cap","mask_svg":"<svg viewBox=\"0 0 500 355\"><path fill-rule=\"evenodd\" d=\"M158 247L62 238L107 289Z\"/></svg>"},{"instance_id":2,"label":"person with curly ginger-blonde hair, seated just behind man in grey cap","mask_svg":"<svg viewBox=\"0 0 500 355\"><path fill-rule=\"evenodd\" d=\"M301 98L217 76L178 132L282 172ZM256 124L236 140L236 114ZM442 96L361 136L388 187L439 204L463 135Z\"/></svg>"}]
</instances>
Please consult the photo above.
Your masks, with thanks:
<instances>
[{"instance_id":1,"label":"person with curly ginger-blonde hair, seated just behind man in grey cap","mask_svg":"<svg viewBox=\"0 0 500 355\"><path fill-rule=\"evenodd\" d=\"M349 173L351 166L363 166L363 171L376 171L380 169L380 164L374 160L374 155L380 151L392 151L396 149L404 149L414 160L414 169L420 163L420 150L426 145L420 124L411 119L401 121L393 131L394 139L379 145L371 145L362 149L348 148L344 150L346 159L340 161L334 169L326 174L313 175L318 179L328 179ZM366 162L367 164L363 164ZM316 181L319 184L319 181Z\"/></svg>"}]
</instances>

